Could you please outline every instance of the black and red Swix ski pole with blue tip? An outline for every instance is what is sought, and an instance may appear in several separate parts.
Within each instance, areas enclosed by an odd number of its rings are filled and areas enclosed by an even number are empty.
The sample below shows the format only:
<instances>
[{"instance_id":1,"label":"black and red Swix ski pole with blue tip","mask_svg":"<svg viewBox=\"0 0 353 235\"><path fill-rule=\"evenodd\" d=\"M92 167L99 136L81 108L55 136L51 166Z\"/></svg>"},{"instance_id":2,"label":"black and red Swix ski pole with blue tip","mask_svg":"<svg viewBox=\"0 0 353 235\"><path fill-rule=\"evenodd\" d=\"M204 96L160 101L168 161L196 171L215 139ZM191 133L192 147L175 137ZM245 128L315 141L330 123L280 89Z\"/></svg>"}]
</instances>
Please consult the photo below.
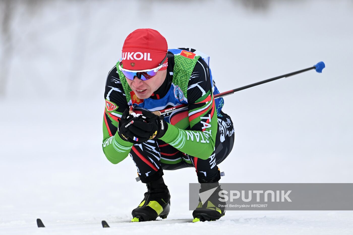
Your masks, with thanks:
<instances>
[{"instance_id":1,"label":"black and red Swix ski pole with blue tip","mask_svg":"<svg viewBox=\"0 0 353 235\"><path fill-rule=\"evenodd\" d=\"M303 72L306 72L306 71L309 71L309 70L313 70L313 69L315 69L316 72L321 73L323 68L325 68L325 64L324 64L324 62L320 61L316 65L314 65L314 66L312 66L310 68L305 68L303 70L298 70L298 71L295 71L295 72L292 72L292 73L287 73L287 74L284 74L284 75L281 75L281 76L278 76L278 77L269 78L269 79L263 80L261 82L257 82L257 83L253 83L253 84L250 84L250 85L242 86L240 88L236 88L236 89L233 89L233 90L225 91L225 92L219 93L217 95L214 95L214 98L217 99L217 98L229 96L229 95L232 95L233 93L235 93L237 91L245 90L245 89L248 89L248 88L251 88L251 87L254 87L254 86L258 86L258 85L261 85L261 84L264 84L264 83L272 82L272 81L280 79L280 78L287 78L287 77L293 76L295 74L303 73ZM187 106L188 106L187 104L180 104L180 105L172 107L172 108L162 109L162 110L159 110L159 111L154 111L152 113L160 116L162 114L166 114L166 113L174 112L174 111L179 110L179 109L183 109L183 108L185 108Z\"/></svg>"}]
</instances>

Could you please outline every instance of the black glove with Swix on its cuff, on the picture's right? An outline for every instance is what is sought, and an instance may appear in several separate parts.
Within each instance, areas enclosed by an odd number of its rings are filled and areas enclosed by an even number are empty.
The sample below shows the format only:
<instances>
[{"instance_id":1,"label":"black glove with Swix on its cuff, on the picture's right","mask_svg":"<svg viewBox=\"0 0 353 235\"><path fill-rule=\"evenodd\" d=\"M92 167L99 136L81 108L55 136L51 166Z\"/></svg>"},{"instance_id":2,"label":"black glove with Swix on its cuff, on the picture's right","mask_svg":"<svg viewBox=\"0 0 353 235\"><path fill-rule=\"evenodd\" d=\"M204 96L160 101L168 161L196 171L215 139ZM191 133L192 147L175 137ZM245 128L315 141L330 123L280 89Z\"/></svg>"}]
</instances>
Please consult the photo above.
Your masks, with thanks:
<instances>
[{"instance_id":1,"label":"black glove with Swix on its cuff, on the picture's right","mask_svg":"<svg viewBox=\"0 0 353 235\"><path fill-rule=\"evenodd\" d=\"M142 116L129 126L129 131L138 142L161 138L168 129L168 123L164 117L160 117L147 110L142 110Z\"/></svg>"}]
</instances>

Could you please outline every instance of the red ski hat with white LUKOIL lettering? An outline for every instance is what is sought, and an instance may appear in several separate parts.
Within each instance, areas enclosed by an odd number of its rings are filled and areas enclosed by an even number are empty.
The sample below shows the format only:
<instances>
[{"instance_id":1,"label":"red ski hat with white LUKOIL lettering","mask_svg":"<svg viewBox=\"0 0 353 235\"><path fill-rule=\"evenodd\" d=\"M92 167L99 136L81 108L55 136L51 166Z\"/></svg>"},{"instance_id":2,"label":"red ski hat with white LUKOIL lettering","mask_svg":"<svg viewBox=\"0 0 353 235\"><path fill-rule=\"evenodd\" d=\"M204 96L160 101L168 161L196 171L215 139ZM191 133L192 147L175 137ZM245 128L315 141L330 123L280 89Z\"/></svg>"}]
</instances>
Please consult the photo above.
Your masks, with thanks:
<instances>
[{"instance_id":1,"label":"red ski hat with white LUKOIL lettering","mask_svg":"<svg viewBox=\"0 0 353 235\"><path fill-rule=\"evenodd\" d=\"M157 30L137 29L126 37L121 52L123 68L149 70L161 64L167 55L168 44ZM167 66L168 59L160 70L166 70Z\"/></svg>"}]
</instances>

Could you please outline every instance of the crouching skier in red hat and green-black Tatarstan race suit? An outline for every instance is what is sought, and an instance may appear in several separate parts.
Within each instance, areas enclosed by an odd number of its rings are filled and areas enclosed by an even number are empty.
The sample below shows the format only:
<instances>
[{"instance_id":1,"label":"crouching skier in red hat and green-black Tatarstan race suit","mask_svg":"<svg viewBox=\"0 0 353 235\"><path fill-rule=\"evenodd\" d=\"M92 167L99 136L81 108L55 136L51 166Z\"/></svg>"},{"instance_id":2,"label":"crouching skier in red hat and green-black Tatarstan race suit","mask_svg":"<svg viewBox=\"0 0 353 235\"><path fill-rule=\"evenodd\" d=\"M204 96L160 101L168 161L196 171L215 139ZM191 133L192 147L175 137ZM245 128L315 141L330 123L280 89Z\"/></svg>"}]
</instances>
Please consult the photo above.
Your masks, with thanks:
<instances>
[{"instance_id":1,"label":"crouching skier in red hat and green-black Tatarstan race suit","mask_svg":"<svg viewBox=\"0 0 353 235\"><path fill-rule=\"evenodd\" d=\"M113 164L130 155L148 189L132 211L132 221L167 217L170 194L163 170L194 167L200 192L210 189L210 183L218 185L217 164L234 144L232 120L221 110L223 99L213 97L219 91L209 56L191 48L167 48L158 31L133 31L106 81L103 152ZM162 116L152 113L180 104L188 106ZM218 186L204 204L199 202L193 222L224 215L217 200L220 190Z\"/></svg>"}]
</instances>

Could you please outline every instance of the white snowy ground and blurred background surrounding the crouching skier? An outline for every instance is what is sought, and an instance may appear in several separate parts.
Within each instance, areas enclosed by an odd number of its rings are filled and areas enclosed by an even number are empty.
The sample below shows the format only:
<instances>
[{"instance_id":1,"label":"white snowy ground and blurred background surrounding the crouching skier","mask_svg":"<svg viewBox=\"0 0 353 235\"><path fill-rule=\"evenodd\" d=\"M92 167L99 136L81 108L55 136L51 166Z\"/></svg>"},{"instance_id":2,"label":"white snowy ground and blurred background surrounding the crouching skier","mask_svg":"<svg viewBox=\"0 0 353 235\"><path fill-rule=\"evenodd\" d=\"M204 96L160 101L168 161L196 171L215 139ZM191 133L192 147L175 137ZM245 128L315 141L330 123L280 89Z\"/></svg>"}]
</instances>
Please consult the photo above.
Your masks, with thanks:
<instances>
[{"instance_id":1,"label":"white snowy ground and blurred background surrounding the crouching skier","mask_svg":"<svg viewBox=\"0 0 353 235\"><path fill-rule=\"evenodd\" d=\"M222 182L352 183L353 1L0 7L0 234L353 234L352 211L227 211L217 222L181 223L192 220L192 168L165 171L167 220L113 223L131 219L146 188L130 158L111 164L101 147L107 73L131 31L153 28L169 48L208 53L220 91L327 66L225 98L236 139L219 165Z\"/></svg>"}]
</instances>

